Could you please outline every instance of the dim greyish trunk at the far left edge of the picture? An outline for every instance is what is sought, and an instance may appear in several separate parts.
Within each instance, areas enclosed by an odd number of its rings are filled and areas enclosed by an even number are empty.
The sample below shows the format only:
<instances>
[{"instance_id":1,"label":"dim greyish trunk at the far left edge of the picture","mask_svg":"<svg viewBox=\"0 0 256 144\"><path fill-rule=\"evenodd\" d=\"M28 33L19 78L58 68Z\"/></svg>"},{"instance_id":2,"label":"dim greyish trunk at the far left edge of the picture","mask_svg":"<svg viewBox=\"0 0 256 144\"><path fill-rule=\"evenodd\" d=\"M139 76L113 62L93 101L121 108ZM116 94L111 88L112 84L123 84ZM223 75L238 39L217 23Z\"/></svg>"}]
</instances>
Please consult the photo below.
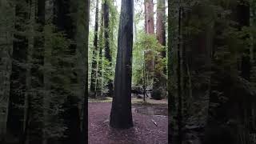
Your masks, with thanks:
<instances>
[{"instance_id":1,"label":"dim greyish trunk at the far left edge of the picture","mask_svg":"<svg viewBox=\"0 0 256 144\"><path fill-rule=\"evenodd\" d=\"M6 123L10 99L10 74L12 69L14 6L0 1L0 142L6 136Z\"/></svg>"}]
</instances>

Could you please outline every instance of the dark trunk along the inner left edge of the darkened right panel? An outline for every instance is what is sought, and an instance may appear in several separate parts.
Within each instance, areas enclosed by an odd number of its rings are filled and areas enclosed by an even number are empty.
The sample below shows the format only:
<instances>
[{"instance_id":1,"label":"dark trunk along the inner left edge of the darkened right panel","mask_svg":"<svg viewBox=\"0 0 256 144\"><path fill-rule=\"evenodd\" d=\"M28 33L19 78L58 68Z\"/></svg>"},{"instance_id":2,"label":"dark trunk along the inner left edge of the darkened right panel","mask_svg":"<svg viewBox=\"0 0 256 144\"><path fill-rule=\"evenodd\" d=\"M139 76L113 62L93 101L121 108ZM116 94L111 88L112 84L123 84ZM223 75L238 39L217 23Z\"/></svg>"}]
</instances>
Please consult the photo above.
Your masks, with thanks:
<instances>
[{"instance_id":1,"label":"dark trunk along the inner left edge of the darkened right panel","mask_svg":"<svg viewBox=\"0 0 256 144\"><path fill-rule=\"evenodd\" d=\"M168 106L169 142L178 143L178 22L179 0L168 2ZM180 92L179 92L180 93Z\"/></svg>"}]
</instances>

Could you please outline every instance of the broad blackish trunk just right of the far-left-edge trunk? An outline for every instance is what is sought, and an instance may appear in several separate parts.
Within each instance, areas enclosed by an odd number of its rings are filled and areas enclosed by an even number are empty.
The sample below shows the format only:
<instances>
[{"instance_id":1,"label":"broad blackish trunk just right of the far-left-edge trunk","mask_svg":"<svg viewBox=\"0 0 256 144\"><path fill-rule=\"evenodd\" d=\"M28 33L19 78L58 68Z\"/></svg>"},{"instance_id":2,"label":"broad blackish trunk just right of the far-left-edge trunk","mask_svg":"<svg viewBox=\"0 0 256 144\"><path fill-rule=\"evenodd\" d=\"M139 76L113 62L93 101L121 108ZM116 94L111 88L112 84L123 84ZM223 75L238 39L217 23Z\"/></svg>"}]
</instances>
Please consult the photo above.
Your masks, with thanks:
<instances>
[{"instance_id":1,"label":"broad blackish trunk just right of the far-left-edge trunk","mask_svg":"<svg viewBox=\"0 0 256 144\"><path fill-rule=\"evenodd\" d=\"M26 31L25 22L27 19L27 1L17 1L15 5L15 22L12 73L10 76L10 102L7 129L8 133L15 138L21 138L23 134L24 106L26 92L26 51L28 41L22 32Z\"/></svg>"}]
</instances>

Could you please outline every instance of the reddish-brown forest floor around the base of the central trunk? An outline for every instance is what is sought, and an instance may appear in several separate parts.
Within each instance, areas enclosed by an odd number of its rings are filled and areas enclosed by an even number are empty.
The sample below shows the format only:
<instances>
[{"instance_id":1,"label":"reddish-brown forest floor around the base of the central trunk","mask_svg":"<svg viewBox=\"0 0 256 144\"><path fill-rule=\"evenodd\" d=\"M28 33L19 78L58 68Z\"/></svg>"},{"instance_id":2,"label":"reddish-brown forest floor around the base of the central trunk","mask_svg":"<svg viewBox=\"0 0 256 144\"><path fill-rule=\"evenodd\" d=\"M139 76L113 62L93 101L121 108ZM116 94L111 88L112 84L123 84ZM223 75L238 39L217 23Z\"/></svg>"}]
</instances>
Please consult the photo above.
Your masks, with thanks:
<instances>
[{"instance_id":1,"label":"reddish-brown forest floor around the base of the central trunk","mask_svg":"<svg viewBox=\"0 0 256 144\"><path fill-rule=\"evenodd\" d=\"M132 98L134 127L115 130L109 126L111 98L89 100L89 144L167 144L167 100Z\"/></svg>"}]
</instances>

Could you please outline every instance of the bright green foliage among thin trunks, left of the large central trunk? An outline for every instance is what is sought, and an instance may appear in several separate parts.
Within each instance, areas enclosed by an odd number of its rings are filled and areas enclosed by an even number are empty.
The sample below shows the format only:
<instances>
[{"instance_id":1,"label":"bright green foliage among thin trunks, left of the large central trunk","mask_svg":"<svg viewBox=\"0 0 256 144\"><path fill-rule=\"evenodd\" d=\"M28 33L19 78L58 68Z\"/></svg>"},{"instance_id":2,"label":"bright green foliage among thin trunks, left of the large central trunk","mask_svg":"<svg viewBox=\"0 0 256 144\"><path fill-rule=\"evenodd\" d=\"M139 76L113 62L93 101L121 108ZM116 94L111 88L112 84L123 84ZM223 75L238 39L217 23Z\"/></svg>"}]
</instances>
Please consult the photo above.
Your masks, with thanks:
<instances>
[{"instance_id":1,"label":"bright green foliage among thin trunks, left of the large central trunk","mask_svg":"<svg viewBox=\"0 0 256 144\"><path fill-rule=\"evenodd\" d=\"M104 2L104 1L102 1ZM96 62L98 63L97 66L97 70L98 72L101 72L102 77L99 76L99 74L97 75L97 80L102 79L102 83L99 83L99 87L101 87L102 89L102 93L106 93L107 92L107 88L106 85L107 83L111 80L113 82L114 80L114 66L115 66L115 58L116 58L116 54L117 54L117 43L118 43L118 7L114 5L114 2L111 0L106 0L108 6L109 6L109 12L110 12L110 23L109 23L109 29L107 30L107 32L109 33L109 38L107 39L109 41L110 44L110 55L112 58L112 62L108 62L106 60L106 58L104 57L105 54L105 42L106 39L104 39L104 23L101 22L101 18L102 18L102 13L103 10L100 10L99 12L99 31L98 31L98 52L97 52L97 57L94 58L94 60L96 60ZM93 10L95 9L95 7L91 7ZM90 50L90 57L89 57L89 72L91 73L92 67L92 52L94 50L94 46L93 46L93 41L94 41L94 30L91 28L90 29L90 40L89 40L89 50ZM102 57L99 56L99 50L102 50ZM101 71L99 71L99 65L102 66ZM91 74L89 74L91 75ZM89 77L90 78L90 77ZM90 79L89 79L89 82Z\"/></svg>"}]
</instances>

